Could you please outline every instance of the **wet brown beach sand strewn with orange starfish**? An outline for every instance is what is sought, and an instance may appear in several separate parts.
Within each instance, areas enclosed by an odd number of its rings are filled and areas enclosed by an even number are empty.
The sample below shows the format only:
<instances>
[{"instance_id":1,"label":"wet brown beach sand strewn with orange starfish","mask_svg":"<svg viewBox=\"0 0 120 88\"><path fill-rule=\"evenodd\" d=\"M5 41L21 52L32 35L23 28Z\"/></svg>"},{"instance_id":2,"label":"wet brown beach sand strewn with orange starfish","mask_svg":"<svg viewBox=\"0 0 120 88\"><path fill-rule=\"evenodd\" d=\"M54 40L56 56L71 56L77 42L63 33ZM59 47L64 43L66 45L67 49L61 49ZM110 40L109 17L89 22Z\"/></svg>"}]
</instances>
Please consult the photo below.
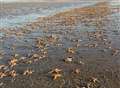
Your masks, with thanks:
<instances>
[{"instance_id":1,"label":"wet brown beach sand strewn with orange starfish","mask_svg":"<svg viewBox=\"0 0 120 88\"><path fill-rule=\"evenodd\" d=\"M119 88L120 26L114 14L104 2L0 30L0 87Z\"/></svg>"}]
</instances>

